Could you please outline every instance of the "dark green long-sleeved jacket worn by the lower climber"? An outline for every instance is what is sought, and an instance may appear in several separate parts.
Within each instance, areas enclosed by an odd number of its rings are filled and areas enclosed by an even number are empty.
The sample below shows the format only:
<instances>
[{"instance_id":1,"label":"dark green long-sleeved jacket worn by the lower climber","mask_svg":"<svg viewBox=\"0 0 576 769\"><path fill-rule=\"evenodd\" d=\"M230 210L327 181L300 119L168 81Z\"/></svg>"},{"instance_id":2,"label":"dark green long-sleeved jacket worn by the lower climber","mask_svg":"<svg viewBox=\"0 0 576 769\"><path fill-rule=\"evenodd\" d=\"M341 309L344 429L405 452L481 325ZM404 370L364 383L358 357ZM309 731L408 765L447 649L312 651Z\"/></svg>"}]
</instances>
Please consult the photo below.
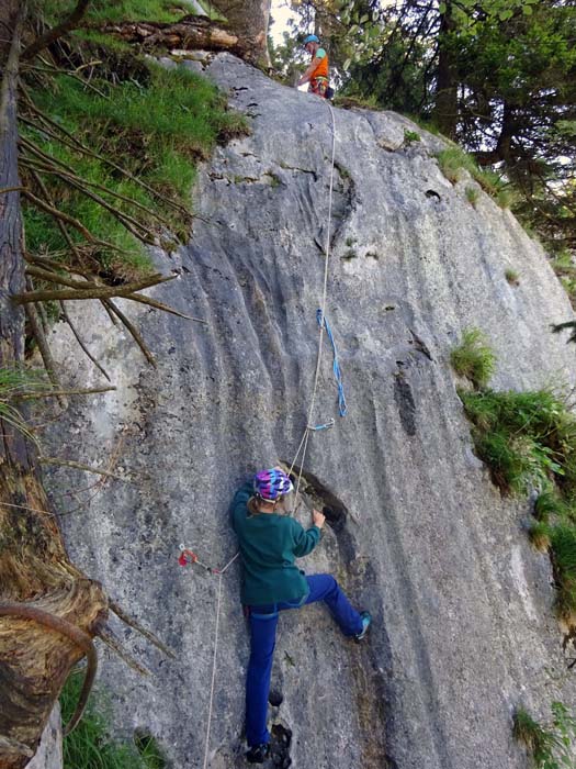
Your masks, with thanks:
<instances>
[{"instance_id":1,"label":"dark green long-sleeved jacket worn by the lower climber","mask_svg":"<svg viewBox=\"0 0 576 769\"><path fill-rule=\"evenodd\" d=\"M307 556L320 539L320 530L304 530L289 515L252 515L247 502L253 495L251 481L245 483L230 505L231 524L240 545L242 561L241 601L261 606L281 601L298 601L308 584L295 558Z\"/></svg>"}]
</instances>

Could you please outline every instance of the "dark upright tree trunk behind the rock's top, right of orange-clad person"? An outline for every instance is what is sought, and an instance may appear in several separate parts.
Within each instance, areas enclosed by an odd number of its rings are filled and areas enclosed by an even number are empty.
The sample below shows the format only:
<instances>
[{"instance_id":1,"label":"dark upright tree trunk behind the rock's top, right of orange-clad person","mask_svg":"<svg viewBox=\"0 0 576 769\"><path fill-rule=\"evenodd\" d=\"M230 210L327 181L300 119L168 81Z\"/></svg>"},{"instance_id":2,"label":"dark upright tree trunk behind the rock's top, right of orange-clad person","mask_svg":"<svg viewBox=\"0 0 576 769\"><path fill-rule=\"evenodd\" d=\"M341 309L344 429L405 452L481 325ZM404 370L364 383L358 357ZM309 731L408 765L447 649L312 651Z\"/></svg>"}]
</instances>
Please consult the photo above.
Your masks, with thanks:
<instances>
[{"instance_id":1,"label":"dark upright tree trunk behind the rock's top, right of orange-clad person","mask_svg":"<svg viewBox=\"0 0 576 769\"><path fill-rule=\"evenodd\" d=\"M449 138L455 138L458 124L458 79L451 35L453 30L451 2L447 0L438 34L438 74L432 118L441 133Z\"/></svg>"}]
</instances>

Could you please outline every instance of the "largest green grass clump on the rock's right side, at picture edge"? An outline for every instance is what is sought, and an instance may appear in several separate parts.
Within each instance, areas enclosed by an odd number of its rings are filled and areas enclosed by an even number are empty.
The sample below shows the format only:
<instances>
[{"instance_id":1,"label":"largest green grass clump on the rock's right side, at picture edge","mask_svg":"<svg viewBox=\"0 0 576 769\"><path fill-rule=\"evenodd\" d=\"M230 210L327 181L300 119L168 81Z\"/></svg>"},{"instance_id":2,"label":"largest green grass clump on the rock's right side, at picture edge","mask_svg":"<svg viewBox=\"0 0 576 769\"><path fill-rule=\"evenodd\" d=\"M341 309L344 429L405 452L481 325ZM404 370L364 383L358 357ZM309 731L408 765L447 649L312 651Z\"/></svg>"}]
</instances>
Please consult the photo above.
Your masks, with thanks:
<instances>
[{"instance_id":1,"label":"largest green grass clump on the rock's right side, at picture edge","mask_svg":"<svg viewBox=\"0 0 576 769\"><path fill-rule=\"evenodd\" d=\"M459 390L475 450L505 494L540 489L530 539L550 547L556 609L576 621L576 415L550 390Z\"/></svg>"}]
</instances>

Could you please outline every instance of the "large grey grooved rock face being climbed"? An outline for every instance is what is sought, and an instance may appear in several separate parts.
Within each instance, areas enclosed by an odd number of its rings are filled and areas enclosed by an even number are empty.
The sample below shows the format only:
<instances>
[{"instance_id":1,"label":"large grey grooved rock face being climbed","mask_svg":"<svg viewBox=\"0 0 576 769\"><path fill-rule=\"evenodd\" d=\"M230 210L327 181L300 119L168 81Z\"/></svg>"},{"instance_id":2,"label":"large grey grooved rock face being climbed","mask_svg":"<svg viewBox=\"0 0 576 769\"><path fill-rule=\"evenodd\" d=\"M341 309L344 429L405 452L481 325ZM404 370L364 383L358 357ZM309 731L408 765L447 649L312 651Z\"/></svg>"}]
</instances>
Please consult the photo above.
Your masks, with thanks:
<instances>
[{"instance_id":1,"label":"large grey grooved rock face being climbed","mask_svg":"<svg viewBox=\"0 0 576 769\"><path fill-rule=\"evenodd\" d=\"M236 551L233 492L296 453L316 366L332 137L317 98L227 55L207 74L253 133L202 170L192 242L158 254L178 279L154 293L207 325L131 307L155 370L97 307L81 307L84 341L117 390L70 406L50 438L66 458L106 467L115 457L129 479L82 493L91 478L58 469L52 483L72 511L63 516L72 558L177 654L166 659L118 626L153 676L103 651L117 723L151 733L169 765L187 769L244 766L248 636L236 561L222 578L204 762L219 578L179 567L179 545L225 565ZM330 509L303 566L335 573L374 625L355 645L323 608L281 617L270 766L290 756L298 769L521 769L515 707L545 716L553 699L574 701L574 681L549 559L523 531L529 502L502 499L474 456L449 354L478 326L498 355L495 388L573 382L574 348L550 333L573 313L513 216L483 192L472 205L470 179L443 177L440 140L392 113L334 115L326 314L348 415L338 415L325 341L313 422L336 424L310 436L296 515ZM405 127L421 141L404 146ZM53 336L74 383L101 383L66 327Z\"/></svg>"}]
</instances>

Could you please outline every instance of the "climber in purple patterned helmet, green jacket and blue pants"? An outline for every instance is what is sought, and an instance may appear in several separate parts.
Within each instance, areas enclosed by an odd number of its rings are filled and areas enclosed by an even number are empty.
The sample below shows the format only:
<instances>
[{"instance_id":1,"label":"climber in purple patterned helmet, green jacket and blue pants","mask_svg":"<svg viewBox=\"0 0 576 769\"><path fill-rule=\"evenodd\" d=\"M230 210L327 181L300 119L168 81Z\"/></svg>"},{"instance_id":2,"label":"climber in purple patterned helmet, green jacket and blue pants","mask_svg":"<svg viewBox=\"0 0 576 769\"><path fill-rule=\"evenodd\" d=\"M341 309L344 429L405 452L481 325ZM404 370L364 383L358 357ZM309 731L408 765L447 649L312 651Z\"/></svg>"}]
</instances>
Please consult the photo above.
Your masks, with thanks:
<instances>
[{"instance_id":1,"label":"climber in purple patterned helmet, green jacket and blue pants","mask_svg":"<svg viewBox=\"0 0 576 769\"><path fill-rule=\"evenodd\" d=\"M250 660L246 681L246 739L250 764L263 764L270 753L268 695L279 613L324 601L345 636L361 640L372 622L358 612L331 575L306 577L294 564L320 539L325 516L312 512L305 530L286 515L290 477L280 468L258 472L234 495L230 514L242 564L241 602L250 626Z\"/></svg>"}]
</instances>

